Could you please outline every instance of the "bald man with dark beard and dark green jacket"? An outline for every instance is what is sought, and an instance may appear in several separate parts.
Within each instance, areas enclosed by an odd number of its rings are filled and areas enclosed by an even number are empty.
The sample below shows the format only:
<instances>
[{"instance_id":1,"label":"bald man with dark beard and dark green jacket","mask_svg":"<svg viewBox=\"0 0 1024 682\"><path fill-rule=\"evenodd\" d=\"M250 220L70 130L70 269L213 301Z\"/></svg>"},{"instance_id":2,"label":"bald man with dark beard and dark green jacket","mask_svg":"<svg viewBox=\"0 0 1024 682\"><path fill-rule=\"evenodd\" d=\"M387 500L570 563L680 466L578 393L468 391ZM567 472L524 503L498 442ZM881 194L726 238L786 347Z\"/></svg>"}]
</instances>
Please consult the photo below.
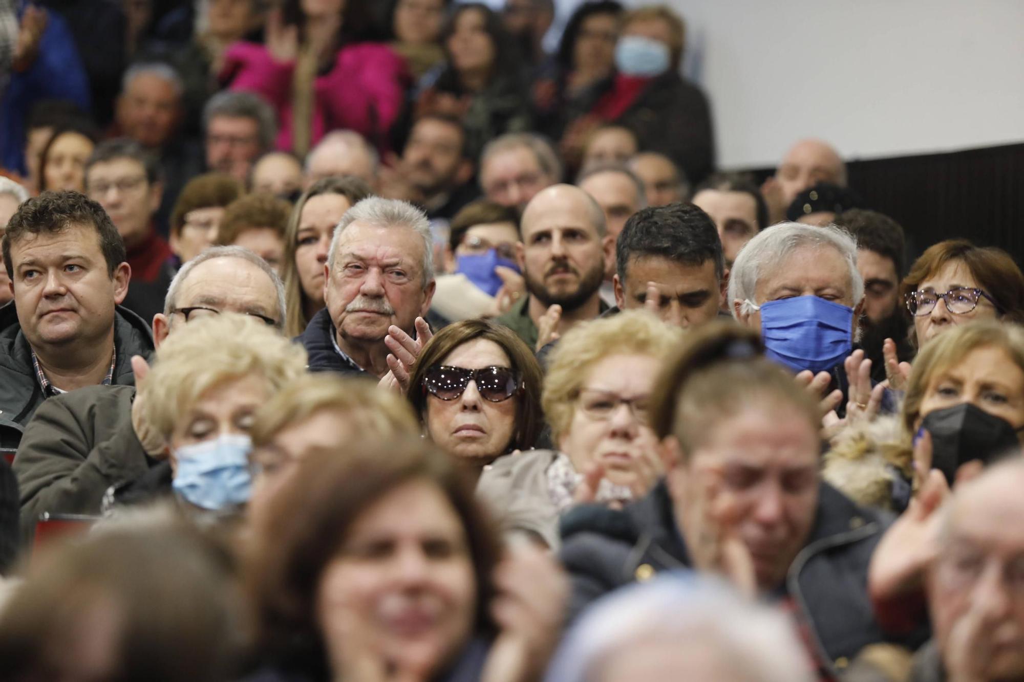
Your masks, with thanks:
<instances>
[{"instance_id":1,"label":"bald man with dark beard and dark green jacket","mask_svg":"<svg viewBox=\"0 0 1024 682\"><path fill-rule=\"evenodd\" d=\"M496 322L540 349L607 309L600 288L614 238L590 195L570 184L540 191L523 211L516 245L528 296Z\"/></svg>"}]
</instances>

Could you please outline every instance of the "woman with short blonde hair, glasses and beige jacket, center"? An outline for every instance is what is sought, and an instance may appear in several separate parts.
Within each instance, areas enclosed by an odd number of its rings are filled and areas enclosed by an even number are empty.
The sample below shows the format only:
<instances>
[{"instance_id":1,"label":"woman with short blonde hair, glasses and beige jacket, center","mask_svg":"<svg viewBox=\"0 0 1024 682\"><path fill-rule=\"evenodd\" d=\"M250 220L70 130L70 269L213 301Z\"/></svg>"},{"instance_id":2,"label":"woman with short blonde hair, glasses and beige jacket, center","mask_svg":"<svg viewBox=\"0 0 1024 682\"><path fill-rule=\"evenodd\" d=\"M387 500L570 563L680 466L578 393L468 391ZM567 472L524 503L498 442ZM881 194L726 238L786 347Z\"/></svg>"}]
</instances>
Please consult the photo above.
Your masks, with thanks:
<instances>
[{"instance_id":1,"label":"woman with short blonde hair, glasses and beige jacket, center","mask_svg":"<svg viewBox=\"0 0 1024 682\"><path fill-rule=\"evenodd\" d=\"M558 342L543 396L556 450L500 457L477 486L505 530L557 548L559 515L572 505L621 506L647 494L662 473L647 422L650 393L681 340L635 311L584 323Z\"/></svg>"}]
</instances>

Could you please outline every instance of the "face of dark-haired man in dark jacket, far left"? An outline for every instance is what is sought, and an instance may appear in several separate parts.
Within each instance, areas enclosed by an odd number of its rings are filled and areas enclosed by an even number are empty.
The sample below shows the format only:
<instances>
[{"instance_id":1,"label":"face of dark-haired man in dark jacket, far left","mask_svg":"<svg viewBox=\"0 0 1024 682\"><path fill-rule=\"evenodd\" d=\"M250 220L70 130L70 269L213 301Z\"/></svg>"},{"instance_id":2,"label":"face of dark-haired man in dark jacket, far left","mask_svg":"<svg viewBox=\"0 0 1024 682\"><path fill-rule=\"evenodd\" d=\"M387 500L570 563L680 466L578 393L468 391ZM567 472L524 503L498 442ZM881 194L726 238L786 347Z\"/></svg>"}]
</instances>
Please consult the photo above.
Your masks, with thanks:
<instances>
[{"instance_id":1,"label":"face of dark-haired man in dark jacket, far left","mask_svg":"<svg viewBox=\"0 0 1024 682\"><path fill-rule=\"evenodd\" d=\"M128 266L114 278L92 225L26 235L11 245L17 321L37 351L100 342L113 334L114 306L128 293Z\"/></svg>"}]
</instances>

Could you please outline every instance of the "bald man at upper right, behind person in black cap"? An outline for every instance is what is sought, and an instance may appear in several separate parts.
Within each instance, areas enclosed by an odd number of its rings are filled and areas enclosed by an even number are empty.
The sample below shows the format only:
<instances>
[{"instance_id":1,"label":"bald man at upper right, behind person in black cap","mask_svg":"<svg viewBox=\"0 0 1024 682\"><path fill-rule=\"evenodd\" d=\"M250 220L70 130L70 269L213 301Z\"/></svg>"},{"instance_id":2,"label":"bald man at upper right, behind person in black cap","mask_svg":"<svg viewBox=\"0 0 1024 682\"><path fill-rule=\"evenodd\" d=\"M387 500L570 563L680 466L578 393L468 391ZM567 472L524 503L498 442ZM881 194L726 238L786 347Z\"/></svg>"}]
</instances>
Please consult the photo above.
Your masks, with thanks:
<instances>
[{"instance_id":1,"label":"bald man at upper right, behind person in black cap","mask_svg":"<svg viewBox=\"0 0 1024 682\"><path fill-rule=\"evenodd\" d=\"M775 174L765 180L761 194L768 203L770 224L785 218L785 210L804 189L816 182L846 186L846 164L830 144L802 139L790 147Z\"/></svg>"}]
</instances>

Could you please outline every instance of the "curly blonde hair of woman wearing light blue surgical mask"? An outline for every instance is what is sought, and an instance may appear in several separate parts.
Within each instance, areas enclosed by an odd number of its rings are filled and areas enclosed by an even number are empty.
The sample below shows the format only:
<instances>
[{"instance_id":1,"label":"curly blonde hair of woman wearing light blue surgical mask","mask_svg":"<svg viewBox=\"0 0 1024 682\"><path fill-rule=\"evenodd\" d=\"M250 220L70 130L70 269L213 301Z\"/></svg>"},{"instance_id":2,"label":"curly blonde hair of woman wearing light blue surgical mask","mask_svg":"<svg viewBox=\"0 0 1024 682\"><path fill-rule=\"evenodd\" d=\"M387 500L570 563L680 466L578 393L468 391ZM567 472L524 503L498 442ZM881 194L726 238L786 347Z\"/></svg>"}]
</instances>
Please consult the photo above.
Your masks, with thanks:
<instances>
[{"instance_id":1,"label":"curly blonde hair of woman wearing light blue surgical mask","mask_svg":"<svg viewBox=\"0 0 1024 682\"><path fill-rule=\"evenodd\" d=\"M306 351L251 315L194 319L167 337L138 381L143 419L169 439L183 415L211 388L249 375L272 391L305 372Z\"/></svg>"}]
</instances>

